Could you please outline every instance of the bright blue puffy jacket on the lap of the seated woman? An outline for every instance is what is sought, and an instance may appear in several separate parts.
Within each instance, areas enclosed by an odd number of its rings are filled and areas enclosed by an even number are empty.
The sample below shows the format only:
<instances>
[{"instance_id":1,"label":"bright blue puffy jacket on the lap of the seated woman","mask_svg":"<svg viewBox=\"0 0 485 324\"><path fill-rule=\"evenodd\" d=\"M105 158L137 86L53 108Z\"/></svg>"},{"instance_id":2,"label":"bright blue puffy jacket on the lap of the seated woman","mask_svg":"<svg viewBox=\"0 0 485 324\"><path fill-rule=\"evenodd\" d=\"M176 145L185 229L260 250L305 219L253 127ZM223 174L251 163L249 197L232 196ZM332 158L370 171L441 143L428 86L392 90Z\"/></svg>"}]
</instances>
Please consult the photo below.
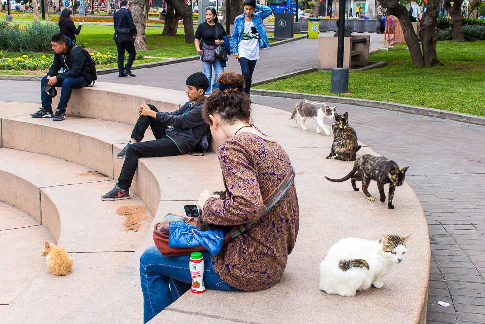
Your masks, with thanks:
<instances>
[{"instance_id":1,"label":"bright blue puffy jacket on the lap of the seated woman","mask_svg":"<svg viewBox=\"0 0 485 324\"><path fill-rule=\"evenodd\" d=\"M226 231L215 229L198 231L197 227L183 222L170 221L168 246L187 248L202 245L211 255L217 256L221 251Z\"/></svg>"}]
</instances>

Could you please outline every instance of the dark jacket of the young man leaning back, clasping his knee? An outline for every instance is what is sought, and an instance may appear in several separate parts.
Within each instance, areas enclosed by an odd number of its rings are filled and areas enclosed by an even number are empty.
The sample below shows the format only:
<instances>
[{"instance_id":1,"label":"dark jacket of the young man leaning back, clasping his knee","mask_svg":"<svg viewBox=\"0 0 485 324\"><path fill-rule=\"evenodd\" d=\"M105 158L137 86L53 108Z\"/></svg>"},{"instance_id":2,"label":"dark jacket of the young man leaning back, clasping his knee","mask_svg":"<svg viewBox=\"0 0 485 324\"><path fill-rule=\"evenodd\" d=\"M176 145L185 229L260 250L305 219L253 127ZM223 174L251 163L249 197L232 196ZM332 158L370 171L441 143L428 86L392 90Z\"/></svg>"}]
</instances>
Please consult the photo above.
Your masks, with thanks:
<instances>
[{"instance_id":1,"label":"dark jacket of the young man leaning back, clasping his knee","mask_svg":"<svg viewBox=\"0 0 485 324\"><path fill-rule=\"evenodd\" d=\"M155 117L155 120L173 127L167 129L166 134L183 154L193 151L209 129L209 125L202 118L204 101L202 99L197 102L187 113L185 111L190 107L190 101L171 113L158 112Z\"/></svg>"}]
</instances>

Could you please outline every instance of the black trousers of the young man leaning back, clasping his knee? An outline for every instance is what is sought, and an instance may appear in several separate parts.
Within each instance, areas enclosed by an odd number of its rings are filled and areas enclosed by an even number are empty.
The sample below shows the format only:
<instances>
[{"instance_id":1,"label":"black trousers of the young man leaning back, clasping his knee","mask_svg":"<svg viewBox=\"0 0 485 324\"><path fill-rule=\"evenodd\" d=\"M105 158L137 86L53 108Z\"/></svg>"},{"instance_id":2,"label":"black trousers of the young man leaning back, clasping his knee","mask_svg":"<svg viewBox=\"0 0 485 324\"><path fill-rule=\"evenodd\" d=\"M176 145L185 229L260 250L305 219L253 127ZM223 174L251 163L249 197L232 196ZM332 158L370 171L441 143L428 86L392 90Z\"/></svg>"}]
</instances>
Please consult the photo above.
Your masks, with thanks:
<instances>
[{"instance_id":1,"label":"black trousers of the young man leaning back, clasping his knee","mask_svg":"<svg viewBox=\"0 0 485 324\"><path fill-rule=\"evenodd\" d=\"M148 105L151 110L157 111L155 106ZM150 126L155 140L141 142L145 131ZM123 190L128 190L131 187L131 182L135 176L136 168L138 167L138 159L140 157L159 157L159 156L175 156L182 155L178 150L177 145L166 136L165 131L168 126L164 123L156 121L150 116L140 116L136 121L131 138L136 139L137 143L131 144L126 152L125 162L121 168L120 176L118 177L118 186Z\"/></svg>"}]
</instances>

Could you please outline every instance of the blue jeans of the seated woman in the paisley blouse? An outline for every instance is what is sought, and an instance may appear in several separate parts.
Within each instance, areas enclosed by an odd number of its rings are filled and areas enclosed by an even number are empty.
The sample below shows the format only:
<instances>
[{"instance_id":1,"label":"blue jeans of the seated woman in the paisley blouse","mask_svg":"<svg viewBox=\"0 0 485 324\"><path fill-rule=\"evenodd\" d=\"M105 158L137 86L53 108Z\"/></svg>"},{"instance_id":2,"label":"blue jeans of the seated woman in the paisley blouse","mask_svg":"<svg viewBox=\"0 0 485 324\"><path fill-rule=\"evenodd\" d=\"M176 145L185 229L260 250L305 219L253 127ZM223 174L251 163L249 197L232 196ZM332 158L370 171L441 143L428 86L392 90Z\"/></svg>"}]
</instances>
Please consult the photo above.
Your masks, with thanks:
<instances>
[{"instance_id":1,"label":"blue jeans of the seated woman in the paisley blouse","mask_svg":"<svg viewBox=\"0 0 485 324\"><path fill-rule=\"evenodd\" d=\"M204 258L204 285L206 288L241 291L232 287L214 271L209 252L202 253ZM154 245L145 250L140 257L140 281L143 292L143 323L151 320L190 290L190 255L163 257Z\"/></svg>"}]
</instances>

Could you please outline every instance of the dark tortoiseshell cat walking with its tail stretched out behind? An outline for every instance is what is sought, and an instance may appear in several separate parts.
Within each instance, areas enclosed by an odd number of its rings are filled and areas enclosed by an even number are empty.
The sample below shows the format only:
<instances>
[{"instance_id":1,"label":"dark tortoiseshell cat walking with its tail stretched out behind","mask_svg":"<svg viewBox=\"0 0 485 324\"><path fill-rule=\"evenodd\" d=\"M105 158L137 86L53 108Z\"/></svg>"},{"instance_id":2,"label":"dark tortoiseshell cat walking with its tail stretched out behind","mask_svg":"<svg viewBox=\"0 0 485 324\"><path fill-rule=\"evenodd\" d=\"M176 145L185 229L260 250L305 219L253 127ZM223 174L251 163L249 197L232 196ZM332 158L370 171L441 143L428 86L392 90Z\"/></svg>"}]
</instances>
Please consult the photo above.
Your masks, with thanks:
<instances>
[{"instance_id":1,"label":"dark tortoiseshell cat walking with its tail stretched out behind","mask_svg":"<svg viewBox=\"0 0 485 324\"><path fill-rule=\"evenodd\" d=\"M354 191L359 191L356 187L356 181L362 181L362 192L366 195L367 199L371 202L374 198L371 196L367 187L371 180L377 181L377 188L379 189L380 201L384 203L386 201L386 195L384 193L384 185L389 184L389 199L388 208L394 209L392 205L392 199L394 198L394 190L396 186L401 186L406 180L406 171L409 167L400 168L396 162L388 160L383 156L362 155L354 162L354 168L341 179L325 179L332 182L344 182L351 179L352 188Z\"/></svg>"}]
</instances>

